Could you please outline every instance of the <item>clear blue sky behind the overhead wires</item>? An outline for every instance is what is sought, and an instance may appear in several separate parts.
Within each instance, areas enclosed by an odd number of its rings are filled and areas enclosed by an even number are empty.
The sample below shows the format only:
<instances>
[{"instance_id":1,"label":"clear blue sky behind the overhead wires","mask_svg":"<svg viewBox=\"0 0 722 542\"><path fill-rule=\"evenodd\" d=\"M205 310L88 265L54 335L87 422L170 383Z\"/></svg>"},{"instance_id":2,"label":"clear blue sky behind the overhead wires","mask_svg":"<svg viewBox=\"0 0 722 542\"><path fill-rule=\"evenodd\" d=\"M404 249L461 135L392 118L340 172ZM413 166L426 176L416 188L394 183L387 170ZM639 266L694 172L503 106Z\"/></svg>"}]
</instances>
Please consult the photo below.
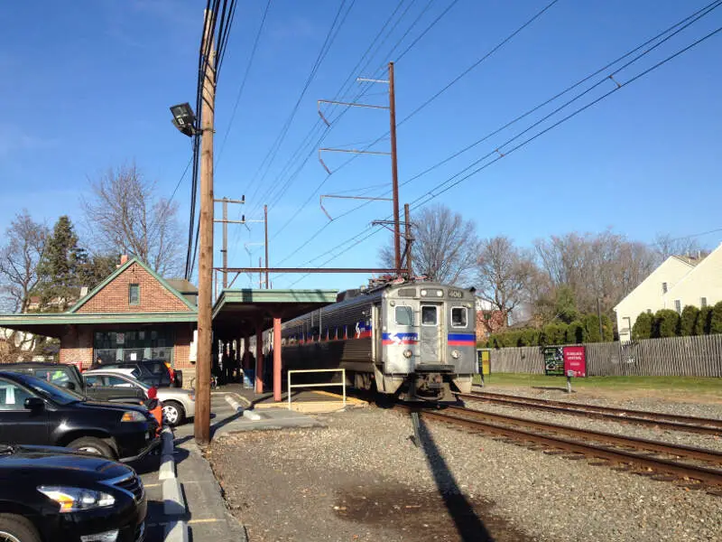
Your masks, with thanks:
<instances>
[{"instance_id":1,"label":"clear blue sky behind the overhead wires","mask_svg":"<svg viewBox=\"0 0 722 542\"><path fill-rule=\"evenodd\" d=\"M317 123L316 100L337 95L392 14L395 0L356 0L301 99L273 162L261 167L299 98L339 2L272 0L229 130L264 1L239 1L228 42L218 84L217 157L227 130L228 135L218 159L216 195L238 198L245 193L248 203L243 212L248 219L260 218L263 203L270 204L272 265L323 264L334 253L312 258L390 213L388 202L369 204L335 220L308 246L288 257L328 222L316 195L279 232L324 179L321 194L357 193L348 191L377 186L367 193L383 195L384 183L390 184L386 156L359 157L327 179L316 154L311 153L294 180L278 188L289 179L288 172L301 165L301 160L290 159ZM397 18L408 7L405 16L366 70L357 75L383 75L385 62L395 61L450 4L451 0L405 0ZM544 0L458 0L396 62L397 119L407 117L546 4ZM400 180L503 126L706 4L697 0L559 0L399 127ZM67 213L83 231L80 201L88 193L88 179L132 161L157 182L159 193L171 194L188 164L190 142L171 126L168 107L194 101L204 5L200 0L85 0L72 3L72 8L50 0L0 5L0 19L5 23L0 37L0 96L5 112L0 118L0 228L5 229L16 211L27 208L36 219L48 223ZM417 25L392 52L420 14ZM616 80L624 83L720 25L722 8L620 72ZM480 236L505 234L522 246L571 230L613 228L649 242L657 232L677 237L722 228L717 213L722 197L721 45L722 33L504 156L435 201L475 220ZM585 99L613 88L614 82L607 80ZM362 89L366 87L354 85L343 98L353 98ZM385 89L384 85L366 89L367 102L383 104ZM402 202L416 200L542 114L404 185ZM352 109L333 123L323 145L357 147L387 130L383 110ZM312 151L310 146L303 148ZM387 151L388 142L382 140L371 148ZM324 159L334 170L347 155L328 154ZM189 192L187 177L175 196L184 230ZM326 207L331 216L338 216L353 205L328 201ZM241 228L229 228L233 266L249 263L245 243L250 244L256 263L261 254L253 243L262 241L263 230ZM375 265L378 248L387 239L379 233L326 265ZM713 247L722 240L722 233L699 240ZM218 262L219 245L218 230ZM350 247L351 242L343 246ZM297 278L277 276L273 286L344 288L365 280L363 276L309 276L296 283ZM236 283L248 284L245 277Z\"/></svg>"}]
</instances>

